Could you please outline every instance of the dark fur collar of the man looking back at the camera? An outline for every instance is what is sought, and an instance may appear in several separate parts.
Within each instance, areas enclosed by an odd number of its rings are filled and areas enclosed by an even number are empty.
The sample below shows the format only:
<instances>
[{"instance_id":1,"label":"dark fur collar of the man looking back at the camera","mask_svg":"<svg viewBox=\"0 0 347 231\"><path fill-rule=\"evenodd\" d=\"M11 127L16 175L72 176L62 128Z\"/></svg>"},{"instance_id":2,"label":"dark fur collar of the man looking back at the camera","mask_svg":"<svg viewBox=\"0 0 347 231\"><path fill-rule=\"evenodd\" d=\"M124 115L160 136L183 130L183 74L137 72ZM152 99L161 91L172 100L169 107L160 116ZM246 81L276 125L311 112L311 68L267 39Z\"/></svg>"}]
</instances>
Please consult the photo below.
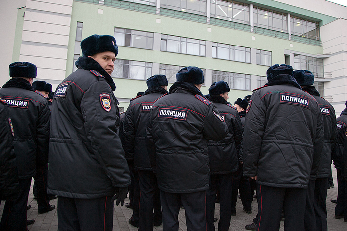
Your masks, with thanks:
<instances>
[{"instance_id":1,"label":"dark fur collar of the man looking back at the camera","mask_svg":"<svg viewBox=\"0 0 347 231\"><path fill-rule=\"evenodd\" d=\"M113 79L111 78L109 73L107 73L104 70L104 68L102 68L100 64L94 59L82 56L78 58L75 64L76 64L76 67L78 67L78 69L84 69L87 71L95 70L99 72L102 76L105 77L105 80L110 85L112 91L116 90L115 82L113 82Z\"/></svg>"}]
</instances>

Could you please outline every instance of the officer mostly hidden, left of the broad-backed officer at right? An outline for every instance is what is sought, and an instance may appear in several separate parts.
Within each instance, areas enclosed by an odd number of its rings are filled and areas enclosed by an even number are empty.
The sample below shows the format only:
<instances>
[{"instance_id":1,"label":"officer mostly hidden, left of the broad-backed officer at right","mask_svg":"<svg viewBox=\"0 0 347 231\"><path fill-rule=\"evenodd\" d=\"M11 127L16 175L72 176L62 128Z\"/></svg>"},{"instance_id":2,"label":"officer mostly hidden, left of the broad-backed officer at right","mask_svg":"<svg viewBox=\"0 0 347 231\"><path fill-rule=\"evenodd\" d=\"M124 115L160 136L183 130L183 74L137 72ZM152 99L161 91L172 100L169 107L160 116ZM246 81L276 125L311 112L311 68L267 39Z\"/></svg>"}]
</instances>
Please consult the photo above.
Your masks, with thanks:
<instances>
[{"instance_id":1,"label":"officer mostly hidden, left of the broad-backed officer at right","mask_svg":"<svg viewBox=\"0 0 347 231\"><path fill-rule=\"evenodd\" d=\"M246 120L246 108L248 106L248 101L250 99L250 95L242 98L238 98L234 104L238 111L238 115L240 116L242 123L242 134L244 130L244 122ZM245 140L242 143L247 142ZM251 185L249 183L249 177L244 177L242 173L243 169L243 159L242 159L242 149L239 155L238 162L238 170L233 174L232 181L232 203L231 203L231 215L236 215L236 203L237 203L237 195L238 190L240 191L240 198L243 205L243 210L246 213L252 213L252 194L251 194Z\"/></svg>"}]
</instances>

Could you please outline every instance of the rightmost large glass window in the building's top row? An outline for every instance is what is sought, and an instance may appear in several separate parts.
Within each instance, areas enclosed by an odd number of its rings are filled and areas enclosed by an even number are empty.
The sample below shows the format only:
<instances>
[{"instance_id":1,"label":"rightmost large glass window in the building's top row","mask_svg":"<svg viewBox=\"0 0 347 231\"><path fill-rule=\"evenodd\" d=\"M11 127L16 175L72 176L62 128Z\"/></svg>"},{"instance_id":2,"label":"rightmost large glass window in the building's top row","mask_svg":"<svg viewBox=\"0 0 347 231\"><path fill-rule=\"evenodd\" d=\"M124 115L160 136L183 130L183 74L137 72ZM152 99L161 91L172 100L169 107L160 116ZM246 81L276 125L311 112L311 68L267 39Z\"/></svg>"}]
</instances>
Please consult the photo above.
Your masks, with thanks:
<instances>
[{"instance_id":1,"label":"rightmost large glass window in the building's top row","mask_svg":"<svg viewBox=\"0 0 347 231\"><path fill-rule=\"evenodd\" d=\"M291 16L290 24L292 35L298 35L309 39L320 40L318 22L296 16Z\"/></svg>"}]
</instances>

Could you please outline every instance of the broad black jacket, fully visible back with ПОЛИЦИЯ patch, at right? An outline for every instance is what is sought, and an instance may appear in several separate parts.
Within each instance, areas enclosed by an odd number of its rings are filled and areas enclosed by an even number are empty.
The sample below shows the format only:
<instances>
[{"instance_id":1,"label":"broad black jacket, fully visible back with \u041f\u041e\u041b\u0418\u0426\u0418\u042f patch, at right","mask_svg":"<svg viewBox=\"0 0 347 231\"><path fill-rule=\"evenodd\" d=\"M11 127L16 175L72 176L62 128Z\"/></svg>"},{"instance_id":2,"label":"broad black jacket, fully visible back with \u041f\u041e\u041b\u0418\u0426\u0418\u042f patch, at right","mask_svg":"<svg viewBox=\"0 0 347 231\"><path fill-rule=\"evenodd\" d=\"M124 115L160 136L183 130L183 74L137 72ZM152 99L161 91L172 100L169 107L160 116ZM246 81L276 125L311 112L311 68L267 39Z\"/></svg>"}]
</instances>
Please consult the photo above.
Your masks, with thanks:
<instances>
[{"instance_id":1,"label":"broad black jacket, fully visible back with \u041f\u041e\u041b\u0418\u0426\u0418\u042f patch, at right","mask_svg":"<svg viewBox=\"0 0 347 231\"><path fill-rule=\"evenodd\" d=\"M307 188L318 173L323 122L317 101L290 75L253 92L244 128L243 174L271 187Z\"/></svg>"}]
</instances>

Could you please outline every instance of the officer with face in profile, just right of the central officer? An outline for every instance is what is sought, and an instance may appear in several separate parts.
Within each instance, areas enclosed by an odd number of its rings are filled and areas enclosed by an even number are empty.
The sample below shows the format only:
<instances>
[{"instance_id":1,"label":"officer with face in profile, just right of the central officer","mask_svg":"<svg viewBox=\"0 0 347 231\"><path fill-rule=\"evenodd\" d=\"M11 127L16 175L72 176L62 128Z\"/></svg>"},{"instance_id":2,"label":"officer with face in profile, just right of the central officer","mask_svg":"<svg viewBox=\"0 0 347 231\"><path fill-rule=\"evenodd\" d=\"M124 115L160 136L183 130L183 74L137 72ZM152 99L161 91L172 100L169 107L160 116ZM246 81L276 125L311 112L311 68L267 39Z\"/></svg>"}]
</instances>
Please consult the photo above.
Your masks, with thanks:
<instances>
[{"instance_id":1,"label":"officer with face in profile, just right of the central officer","mask_svg":"<svg viewBox=\"0 0 347 231\"><path fill-rule=\"evenodd\" d=\"M227 102L230 88L223 80L212 83L209 101L217 107L228 125L228 135L221 141L208 144L210 190L207 190L207 230L214 231L213 218L217 188L219 190L219 231L228 231L231 216L232 175L238 169L238 153L242 141L242 124L237 109Z\"/></svg>"}]
</instances>

